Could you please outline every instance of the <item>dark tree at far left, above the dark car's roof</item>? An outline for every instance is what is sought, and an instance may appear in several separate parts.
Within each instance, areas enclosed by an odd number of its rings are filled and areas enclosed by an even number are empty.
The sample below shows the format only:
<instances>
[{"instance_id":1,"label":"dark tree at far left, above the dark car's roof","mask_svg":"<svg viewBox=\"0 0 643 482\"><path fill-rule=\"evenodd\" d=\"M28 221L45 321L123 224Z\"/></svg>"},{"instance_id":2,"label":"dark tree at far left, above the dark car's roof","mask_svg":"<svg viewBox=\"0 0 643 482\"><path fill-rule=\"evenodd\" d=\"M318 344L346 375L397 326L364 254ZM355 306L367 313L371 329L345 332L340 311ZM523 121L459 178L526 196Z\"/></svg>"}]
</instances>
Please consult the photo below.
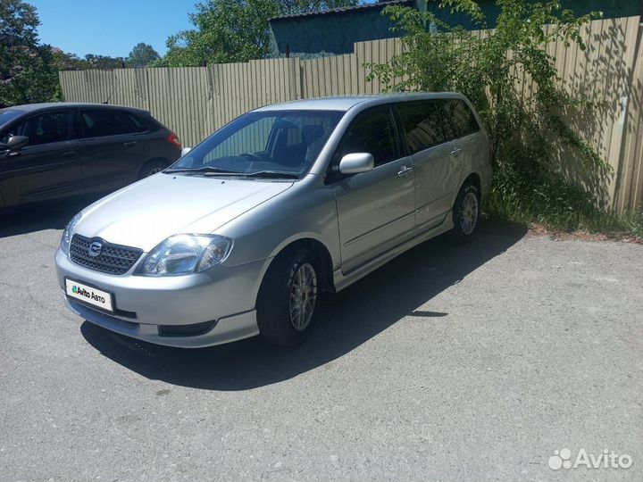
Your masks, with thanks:
<instances>
[{"instance_id":1,"label":"dark tree at far left, above the dark car's roof","mask_svg":"<svg viewBox=\"0 0 643 482\"><path fill-rule=\"evenodd\" d=\"M0 2L0 107L54 98L58 74L50 46L38 45L36 8Z\"/></svg>"}]
</instances>

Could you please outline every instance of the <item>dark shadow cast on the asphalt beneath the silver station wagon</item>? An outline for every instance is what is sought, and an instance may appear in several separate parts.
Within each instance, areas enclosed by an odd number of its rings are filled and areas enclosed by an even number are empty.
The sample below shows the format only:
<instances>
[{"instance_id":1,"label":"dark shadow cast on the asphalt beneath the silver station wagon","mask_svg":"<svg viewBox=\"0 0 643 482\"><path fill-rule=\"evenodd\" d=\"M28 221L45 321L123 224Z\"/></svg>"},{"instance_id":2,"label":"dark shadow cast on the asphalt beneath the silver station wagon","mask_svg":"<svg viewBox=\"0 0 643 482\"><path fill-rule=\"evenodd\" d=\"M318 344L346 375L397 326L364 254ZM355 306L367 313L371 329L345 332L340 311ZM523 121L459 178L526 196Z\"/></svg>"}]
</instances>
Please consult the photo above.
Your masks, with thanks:
<instances>
[{"instance_id":1,"label":"dark shadow cast on the asphalt beneath the silver station wagon","mask_svg":"<svg viewBox=\"0 0 643 482\"><path fill-rule=\"evenodd\" d=\"M448 313L424 311L422 305L526 233L521 226L488 221L467 245L454 245L448 236L418 245L346 290L325 295L313 333L292 349L254 337L188 350L123 337L88 321L80 330L104 356L146 378L207 390L270 385L349 353L405 316L445 322Z\"/></svg>"}]
</instances>

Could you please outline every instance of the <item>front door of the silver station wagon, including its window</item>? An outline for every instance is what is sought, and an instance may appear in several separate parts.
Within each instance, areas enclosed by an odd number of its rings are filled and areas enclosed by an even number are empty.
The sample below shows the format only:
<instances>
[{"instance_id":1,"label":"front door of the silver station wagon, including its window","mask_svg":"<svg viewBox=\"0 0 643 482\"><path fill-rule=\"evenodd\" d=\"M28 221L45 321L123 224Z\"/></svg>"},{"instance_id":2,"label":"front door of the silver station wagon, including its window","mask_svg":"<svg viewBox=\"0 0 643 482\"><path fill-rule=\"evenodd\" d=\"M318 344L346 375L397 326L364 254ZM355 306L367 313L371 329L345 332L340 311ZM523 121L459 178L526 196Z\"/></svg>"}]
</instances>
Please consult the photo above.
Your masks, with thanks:
<instances>
[{"instance_id":1,"label":"front door of the silver station wagon, including its window","mask_svg":"<svg viewBox=\"0 0 643 482\"><path fill-rule=\"evenodd\" d=\"M333 189L338 209L342 271L347 273L411 236L415 212L413 163L401 143L388 105L373 107L353 120L333 156L370 153L375 167L340 176Z\"/></svg>"}]
</instances>

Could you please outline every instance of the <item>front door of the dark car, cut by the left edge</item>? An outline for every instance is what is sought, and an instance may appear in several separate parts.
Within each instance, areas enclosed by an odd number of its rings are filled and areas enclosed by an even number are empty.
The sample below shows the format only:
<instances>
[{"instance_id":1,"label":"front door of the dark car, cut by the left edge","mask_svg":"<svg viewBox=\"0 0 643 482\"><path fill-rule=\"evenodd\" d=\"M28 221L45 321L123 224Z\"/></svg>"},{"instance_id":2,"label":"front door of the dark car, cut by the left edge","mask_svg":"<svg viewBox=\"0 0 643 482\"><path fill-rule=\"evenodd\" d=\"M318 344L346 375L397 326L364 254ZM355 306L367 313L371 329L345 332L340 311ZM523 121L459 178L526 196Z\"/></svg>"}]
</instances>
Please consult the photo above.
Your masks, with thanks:
<instances>
[{"instance_id":1,"label":"front door of the dark car, cut by the left edge","mask_svg":"<svg viewBox=\"0 0 643 482\"><path fill-rule=\"evenodd\" d=\"M10 132L11 131L11 132ZM0 153L0 193L6 207L81 195L78 139L71 130L71 111L40 112L3 131L27 136L20 151Z\"/></svg>"}]
</instances>

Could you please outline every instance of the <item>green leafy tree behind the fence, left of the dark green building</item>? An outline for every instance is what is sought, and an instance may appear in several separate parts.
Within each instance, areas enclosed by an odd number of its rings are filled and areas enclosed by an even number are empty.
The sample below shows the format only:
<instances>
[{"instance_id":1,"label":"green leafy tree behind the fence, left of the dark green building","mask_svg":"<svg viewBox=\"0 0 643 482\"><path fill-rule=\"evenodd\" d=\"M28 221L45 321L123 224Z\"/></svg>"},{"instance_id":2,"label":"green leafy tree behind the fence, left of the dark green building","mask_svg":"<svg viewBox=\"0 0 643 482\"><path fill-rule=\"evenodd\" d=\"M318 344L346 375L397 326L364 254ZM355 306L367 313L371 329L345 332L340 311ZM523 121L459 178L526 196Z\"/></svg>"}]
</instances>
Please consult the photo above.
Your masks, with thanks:
<instances>
[{"instance_id":1,"label":"green leafy tree behind the fence, left of the dark green building","mask_svg":"<svg viewBox=\"0 0 643 482\"><path fill-rule=\"evenodd\" d=\"M271 18L355 4L358 0L207 0L196 4L196 13L190 15L196 29L170 37L168 53L157 65L187 67L261 59L270 49Z\"/></svg>"}]
</instances>

